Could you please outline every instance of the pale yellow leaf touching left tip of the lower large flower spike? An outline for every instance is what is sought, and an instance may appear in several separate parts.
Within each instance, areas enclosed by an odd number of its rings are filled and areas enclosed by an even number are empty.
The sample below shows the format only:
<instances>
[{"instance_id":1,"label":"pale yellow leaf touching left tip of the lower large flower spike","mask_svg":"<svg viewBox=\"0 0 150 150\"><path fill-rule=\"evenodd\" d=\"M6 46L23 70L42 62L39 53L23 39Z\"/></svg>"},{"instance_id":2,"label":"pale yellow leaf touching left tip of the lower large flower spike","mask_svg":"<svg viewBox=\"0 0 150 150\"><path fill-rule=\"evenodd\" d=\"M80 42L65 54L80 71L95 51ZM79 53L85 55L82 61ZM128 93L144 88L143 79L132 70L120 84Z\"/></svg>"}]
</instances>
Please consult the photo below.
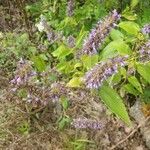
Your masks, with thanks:
<instances>
[{"instance_id":1,"label":"pale yellow leaf touching left tip of the lower large flower spike","mask_svg":"<svg viewBox=\"0 0 150 150\"><path fill-rule=\"evenodd\" d=\"M68 87L80 87L81 86L81 78L80 77L73 77L68 83Z\"/></svg>"}]
</instances>

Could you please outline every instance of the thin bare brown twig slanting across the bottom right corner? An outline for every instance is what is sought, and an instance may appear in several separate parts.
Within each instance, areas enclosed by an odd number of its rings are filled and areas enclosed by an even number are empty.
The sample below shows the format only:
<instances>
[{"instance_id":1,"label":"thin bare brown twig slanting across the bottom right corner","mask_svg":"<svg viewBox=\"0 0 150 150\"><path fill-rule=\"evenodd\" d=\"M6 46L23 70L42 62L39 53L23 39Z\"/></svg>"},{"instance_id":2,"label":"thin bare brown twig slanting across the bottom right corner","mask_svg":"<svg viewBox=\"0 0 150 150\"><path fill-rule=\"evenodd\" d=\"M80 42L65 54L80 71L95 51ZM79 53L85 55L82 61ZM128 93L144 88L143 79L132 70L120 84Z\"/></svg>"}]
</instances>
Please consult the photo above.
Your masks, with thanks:
<instances>
[{"instance_id":1,"label":"thin bare brown twig slanting across the bottom right corner","mask_svg":"<svg viewBox=\"0 0 150 150\"><path fill-rule=\"evenodd\" d=\"M119 141L116 145L112 146L112 147L110 148L110 150L114 150L114 149L115 149L116 147L118 147L120 144L122 144L122 143L124 143L126 140L128 140L134 133L136 133L136 132L138 131L139 128L141 128L143 125L145 125L145 123L146 123L149 119L150 119L150 116L147 117L146 120L145 120L143 123L139 124L139 125L137 126L137 128L134 129L126 138L124 138L123 140Z\"/></svg>"}]
</instances>

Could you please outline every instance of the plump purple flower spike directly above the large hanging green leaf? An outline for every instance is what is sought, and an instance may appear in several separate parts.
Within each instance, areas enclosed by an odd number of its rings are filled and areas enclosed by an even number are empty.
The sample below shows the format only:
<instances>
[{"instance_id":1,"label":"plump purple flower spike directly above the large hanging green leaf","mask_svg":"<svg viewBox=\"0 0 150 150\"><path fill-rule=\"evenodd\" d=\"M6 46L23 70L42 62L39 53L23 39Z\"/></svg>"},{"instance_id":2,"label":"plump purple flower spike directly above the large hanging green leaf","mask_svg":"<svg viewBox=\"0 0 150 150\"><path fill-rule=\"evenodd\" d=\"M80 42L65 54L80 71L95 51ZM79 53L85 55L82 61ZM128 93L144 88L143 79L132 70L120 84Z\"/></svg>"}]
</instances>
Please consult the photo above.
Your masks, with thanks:
<instances>
[{"instance_id":1,"label":"plump purple flower spike directly above the large hanging green leaf","mask_svg":"<svg viewBox=\"0 0 150 150\"><path fill-rule=\"evenodd\" d=\"M118 72L119 67L126 65L126 59L128 56L111 58L106 62L99 62L91 70L89 70L85 77L85 85L87 88L99 88L103 81L113 74Z\"/></svg>"}]
</instances>

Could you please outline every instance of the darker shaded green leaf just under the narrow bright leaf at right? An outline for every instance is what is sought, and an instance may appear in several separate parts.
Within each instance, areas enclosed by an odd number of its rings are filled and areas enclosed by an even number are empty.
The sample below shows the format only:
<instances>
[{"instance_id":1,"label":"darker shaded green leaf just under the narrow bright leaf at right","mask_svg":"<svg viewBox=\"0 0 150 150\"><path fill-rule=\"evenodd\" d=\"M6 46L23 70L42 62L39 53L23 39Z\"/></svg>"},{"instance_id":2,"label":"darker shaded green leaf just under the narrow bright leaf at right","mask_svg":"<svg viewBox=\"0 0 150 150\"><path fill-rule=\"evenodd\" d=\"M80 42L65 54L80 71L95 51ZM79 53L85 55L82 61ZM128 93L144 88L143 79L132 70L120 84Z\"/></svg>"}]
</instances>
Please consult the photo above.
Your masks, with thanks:
<instances>
[{"instance_id":1,"label":"darker shaded green leaf just under the narrow bright leaf at right","mask_svg":"<svg viewBox=\"0 0 150 150\"><path fill-rule=\"evenodd\" d=\"M139 94L139 92L134 88L134 86L133 85L131 85L131 84L125 84L124 86L123 86L123 89L127 92L127 93L130 93L130 94L133 94L133 95L135 95L135 96L137 96L138 94Z\"/></svg>"}]
</instances>

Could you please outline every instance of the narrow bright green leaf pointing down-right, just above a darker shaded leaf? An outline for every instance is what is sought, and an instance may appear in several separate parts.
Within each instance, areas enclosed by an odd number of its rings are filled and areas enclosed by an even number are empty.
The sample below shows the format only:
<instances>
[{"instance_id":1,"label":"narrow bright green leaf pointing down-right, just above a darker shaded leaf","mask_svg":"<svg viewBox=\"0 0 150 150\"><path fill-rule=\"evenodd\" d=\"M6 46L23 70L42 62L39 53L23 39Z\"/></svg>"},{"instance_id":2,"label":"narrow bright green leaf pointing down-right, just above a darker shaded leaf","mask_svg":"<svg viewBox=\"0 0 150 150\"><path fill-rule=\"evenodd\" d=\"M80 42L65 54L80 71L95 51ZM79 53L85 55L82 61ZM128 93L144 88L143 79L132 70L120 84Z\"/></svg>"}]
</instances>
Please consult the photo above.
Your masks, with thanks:
<instances>
[{"instance_id":1,"label":"narrow bright green leaf pointing down-right, just above a darker shaded leaf","mask_svg":"<svg viewBox=\"0 0 150 150\"><path fill-rule=\"evenodd\" d=\"M128 78L130 84L132 84L139 92L143 93L141 84L135 76L131 76Z\"/></svg>"}]
</instances>

